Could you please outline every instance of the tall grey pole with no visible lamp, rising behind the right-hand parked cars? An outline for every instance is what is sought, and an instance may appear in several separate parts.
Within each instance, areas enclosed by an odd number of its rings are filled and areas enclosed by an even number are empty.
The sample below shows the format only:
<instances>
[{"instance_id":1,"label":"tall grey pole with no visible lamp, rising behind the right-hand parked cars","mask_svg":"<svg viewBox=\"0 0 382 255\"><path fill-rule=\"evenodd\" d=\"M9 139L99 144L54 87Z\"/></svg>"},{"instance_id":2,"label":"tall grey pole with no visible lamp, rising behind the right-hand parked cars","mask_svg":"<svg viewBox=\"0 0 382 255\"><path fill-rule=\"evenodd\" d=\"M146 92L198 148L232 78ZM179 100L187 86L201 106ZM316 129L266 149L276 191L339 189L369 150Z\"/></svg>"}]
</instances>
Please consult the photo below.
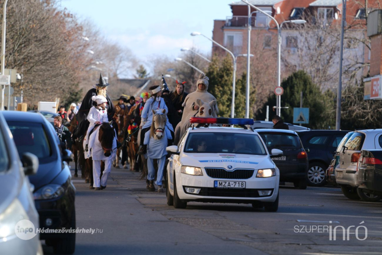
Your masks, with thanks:
<instances>
[{"instance_id":1,"label":"tall grey pole with no visible lamp, rising behind the right-hand parked cars","mask_svg":"<svg viewBox=\"0 0 382 255\"><path fill-rule=\"evenodd\" d=\"M336 130L341 129L341 97L342 97L342 56L343 56L343 34L346 26L346 1L342 0L341 17L341 42L340 42L340 73L337 88L337 108L336 108Z\"/></svg>"}]
</instances>

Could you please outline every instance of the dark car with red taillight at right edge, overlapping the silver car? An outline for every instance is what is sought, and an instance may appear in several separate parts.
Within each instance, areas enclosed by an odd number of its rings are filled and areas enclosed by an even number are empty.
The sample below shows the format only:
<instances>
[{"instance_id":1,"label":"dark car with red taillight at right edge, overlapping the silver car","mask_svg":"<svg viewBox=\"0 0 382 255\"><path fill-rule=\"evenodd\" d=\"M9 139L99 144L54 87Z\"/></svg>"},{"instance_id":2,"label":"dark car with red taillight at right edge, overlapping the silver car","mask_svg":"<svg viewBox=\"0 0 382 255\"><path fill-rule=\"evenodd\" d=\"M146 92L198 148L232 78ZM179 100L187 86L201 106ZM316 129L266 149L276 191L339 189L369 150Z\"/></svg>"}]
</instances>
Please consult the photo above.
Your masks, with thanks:
<instances>
[{"instance_id":1,"label":"dark car with red taillight at right edge, overlapping the silver car","mask_svg":"<svg viewBox=\"0 0 382 255\"><path fill-rule=\"evenodd\" d=\"M382 136L378 138L381 145ZM369 149L361 150L361 157L358 167L358 193L361 197L363 193L382 196L382 150ZM377 201L377 198L374 200Z\"/></svg>"}]
</instances>

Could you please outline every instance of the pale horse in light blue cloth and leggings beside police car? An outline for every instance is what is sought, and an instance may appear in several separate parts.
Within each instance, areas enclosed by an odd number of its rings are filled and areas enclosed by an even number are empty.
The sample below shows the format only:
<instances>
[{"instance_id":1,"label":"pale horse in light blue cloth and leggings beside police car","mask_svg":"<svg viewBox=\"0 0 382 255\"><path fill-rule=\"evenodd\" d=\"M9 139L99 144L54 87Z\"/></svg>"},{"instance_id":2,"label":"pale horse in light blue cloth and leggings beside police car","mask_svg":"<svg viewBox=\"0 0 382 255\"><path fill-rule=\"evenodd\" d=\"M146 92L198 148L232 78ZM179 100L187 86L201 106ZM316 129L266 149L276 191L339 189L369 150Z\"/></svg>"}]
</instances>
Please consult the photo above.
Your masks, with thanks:
<instances>
[{"instance_id":1,"label":"pale horse in light blue cloth and leggings beside police car","mask_svg":"<svg viewBox=\"0 0 382 255\"><path fill-rule=\"evenodd\" d=\"M144 144L147 145L147 168L148 175L147 180L150 181L149 191L155 191L154 179L155 179L155 168L154 159L158 159L158 169L157 178L155 184L158 185L158 192L163 192L162 179L163 179L163 168L166 162L166 147L167 139L172 139L171 133L166 126L166 110L153 110L153 121L151 124L150 132L145 134Z\"/></svg>"}]
</instances>

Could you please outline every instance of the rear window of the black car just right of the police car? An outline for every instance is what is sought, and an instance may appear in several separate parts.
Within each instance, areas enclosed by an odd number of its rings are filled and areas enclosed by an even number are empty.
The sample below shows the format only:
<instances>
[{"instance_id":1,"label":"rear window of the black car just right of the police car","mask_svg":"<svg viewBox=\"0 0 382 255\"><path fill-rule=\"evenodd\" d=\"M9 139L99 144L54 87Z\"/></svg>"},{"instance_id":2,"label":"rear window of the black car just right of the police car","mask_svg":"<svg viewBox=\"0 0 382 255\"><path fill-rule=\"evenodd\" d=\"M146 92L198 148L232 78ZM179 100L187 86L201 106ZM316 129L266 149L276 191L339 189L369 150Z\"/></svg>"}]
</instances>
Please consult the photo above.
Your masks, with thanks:
<instances>
[{"instance_id":1,"label":"rear window of the black car just right of the police car","mask_svg":"<svg viewBox=\"0 0 382 255\"><path fill-rule=\"evenodd\" d=\"M280 147L300 148L298 136L289 133L264 132L260 133L268 150Z\"/></svg>"}]
</instances>

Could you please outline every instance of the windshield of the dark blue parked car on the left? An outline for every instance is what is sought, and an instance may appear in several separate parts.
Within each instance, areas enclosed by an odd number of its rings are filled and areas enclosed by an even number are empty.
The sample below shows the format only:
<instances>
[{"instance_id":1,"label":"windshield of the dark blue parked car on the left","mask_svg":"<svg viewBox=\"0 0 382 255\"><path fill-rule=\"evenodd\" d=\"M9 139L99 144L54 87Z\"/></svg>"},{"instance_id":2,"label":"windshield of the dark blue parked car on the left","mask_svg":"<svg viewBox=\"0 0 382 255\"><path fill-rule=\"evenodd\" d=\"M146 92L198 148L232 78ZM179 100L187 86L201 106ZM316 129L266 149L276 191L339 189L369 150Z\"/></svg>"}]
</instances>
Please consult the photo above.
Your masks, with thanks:
<instances>
[{"instance_id":1,"label":"windshield of the dark blue parked car on the left","mask_svg":"<svg viewBox=\"0 0 382 255\"><path fill-rule=\"evenodd\" d=\"M41 123L10 121L8 126L20 158L24 152L31 152L40 162L44 162L52 155L51 145Z\"/></svg>"}]
</instances>

